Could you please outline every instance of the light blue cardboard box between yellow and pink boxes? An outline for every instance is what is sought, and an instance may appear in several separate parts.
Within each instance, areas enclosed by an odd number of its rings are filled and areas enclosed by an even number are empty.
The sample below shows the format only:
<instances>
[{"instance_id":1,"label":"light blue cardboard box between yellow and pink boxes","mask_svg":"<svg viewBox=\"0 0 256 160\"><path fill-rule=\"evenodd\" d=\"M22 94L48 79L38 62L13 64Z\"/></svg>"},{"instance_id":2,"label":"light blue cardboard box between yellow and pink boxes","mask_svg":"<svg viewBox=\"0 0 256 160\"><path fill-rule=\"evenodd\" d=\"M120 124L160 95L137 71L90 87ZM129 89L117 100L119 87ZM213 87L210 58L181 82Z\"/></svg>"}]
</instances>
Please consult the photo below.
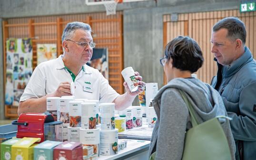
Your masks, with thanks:
<instances>
[{"instance_id":1,"label":"light blue cardboard box between yellow and pink boxes","mask_svg":"<svg viewBox=\"0 0 256 160\"><path fill-rule=\"evenodd\" d=\"M61 144L60 141L44 141L34 147L34 160L53 160L53 148Z\"/></svg>"}]
</instances>

